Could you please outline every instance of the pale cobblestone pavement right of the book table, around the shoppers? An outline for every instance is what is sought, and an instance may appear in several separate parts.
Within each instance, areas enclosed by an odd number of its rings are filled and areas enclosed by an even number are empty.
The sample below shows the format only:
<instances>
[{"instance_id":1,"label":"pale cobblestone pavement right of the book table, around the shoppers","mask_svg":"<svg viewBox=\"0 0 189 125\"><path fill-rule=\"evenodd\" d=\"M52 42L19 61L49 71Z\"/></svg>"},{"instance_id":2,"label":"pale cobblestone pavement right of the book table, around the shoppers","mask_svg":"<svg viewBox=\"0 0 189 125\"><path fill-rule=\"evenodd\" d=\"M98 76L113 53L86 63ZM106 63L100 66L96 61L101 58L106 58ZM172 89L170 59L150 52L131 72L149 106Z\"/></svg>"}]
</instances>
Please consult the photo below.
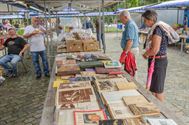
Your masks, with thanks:
<instances>
[{"instance_id":1,"label":"pale cobblestone pavement right of the book table, around the shoppers","mask_svg":"<svg viewBox=\"0 0 189 125\"><path fill-rule=\"evenodd\" d=\"M118 60L121 34L106 34L107 54ZM145 85L147 77L147 61L142 58L142 45L138 59L137 81ZM180 48L172 46L168 48L168 69L165 81L166 101L174 107L176 114L189 125L189 54L180 52Z\"/></svg>"}]
</instances>

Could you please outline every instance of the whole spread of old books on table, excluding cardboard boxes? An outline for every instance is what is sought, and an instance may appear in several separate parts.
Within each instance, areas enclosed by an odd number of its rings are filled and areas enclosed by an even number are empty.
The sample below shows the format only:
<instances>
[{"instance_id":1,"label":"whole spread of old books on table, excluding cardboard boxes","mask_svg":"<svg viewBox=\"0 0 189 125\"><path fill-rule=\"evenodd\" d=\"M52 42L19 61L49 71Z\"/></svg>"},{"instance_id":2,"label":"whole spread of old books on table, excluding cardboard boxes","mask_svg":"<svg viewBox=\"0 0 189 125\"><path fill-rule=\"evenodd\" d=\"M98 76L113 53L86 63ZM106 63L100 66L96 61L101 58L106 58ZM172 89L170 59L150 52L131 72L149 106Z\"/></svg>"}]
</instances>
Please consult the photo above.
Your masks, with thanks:
<instances>
[{"instance_id":1,"label":"whole spread of old books on table, excluding cardboard boxes","mask_svg":"<svg viewBox=\"0 0 189 125\"><path fill-rule=\"evenodd\" d=\"M118 61L100 53L66 53L55 62L57 125L176 125L159 117Z\"/></svg>"}]
</instances>

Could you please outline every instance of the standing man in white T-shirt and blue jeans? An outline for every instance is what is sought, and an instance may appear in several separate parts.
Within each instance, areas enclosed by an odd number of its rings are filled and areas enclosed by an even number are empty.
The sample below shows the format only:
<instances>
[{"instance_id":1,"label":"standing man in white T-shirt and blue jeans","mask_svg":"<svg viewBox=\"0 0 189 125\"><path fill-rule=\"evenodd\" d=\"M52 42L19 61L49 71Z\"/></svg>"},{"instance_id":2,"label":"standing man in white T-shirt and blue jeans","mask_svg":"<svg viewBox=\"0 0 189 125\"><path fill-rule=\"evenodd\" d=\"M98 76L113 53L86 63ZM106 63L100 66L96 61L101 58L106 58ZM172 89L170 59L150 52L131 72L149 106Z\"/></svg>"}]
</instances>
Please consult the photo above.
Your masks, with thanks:
<instances>
[{"instance_id":1,"label":"standing man in white T-shirt and blue jeans","mask_svg":"<svg viewBox=\"0 0 189 125\"><path fill-rule=\"evenodd\" d=\"M44 43L45 28L39 25L37 17L32 18L32 25L25 28L24 37L29 40L32 61L35 67L36 79L41 78L41 68L39 64L39 56L42 59L43 71L46 77L49 77L49 66L46 55L46 47Z\"/></svg>"}]
</instances>

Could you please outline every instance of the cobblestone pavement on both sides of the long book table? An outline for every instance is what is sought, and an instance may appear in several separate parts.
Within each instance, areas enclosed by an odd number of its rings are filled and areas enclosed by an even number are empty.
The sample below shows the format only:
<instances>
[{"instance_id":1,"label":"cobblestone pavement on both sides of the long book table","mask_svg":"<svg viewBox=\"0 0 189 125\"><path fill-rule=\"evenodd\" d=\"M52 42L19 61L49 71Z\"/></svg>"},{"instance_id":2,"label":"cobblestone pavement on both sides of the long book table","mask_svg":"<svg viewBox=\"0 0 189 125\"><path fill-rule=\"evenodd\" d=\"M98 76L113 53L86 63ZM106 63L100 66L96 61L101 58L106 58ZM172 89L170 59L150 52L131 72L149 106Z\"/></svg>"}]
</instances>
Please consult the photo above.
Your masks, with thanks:
<instances>
[{"instance_id":1,"label":"cobblestone pavement on both sides of the long book table","mask_svg":"<svg viewBox=\"0 0 189 125\"><path fill-rule=\"evenodd\" d=\"M107 55L116 60L121 53L120 36L116 33L106 34ZM176 47L169 47L168 60L166 101L175 107L171 110L182 115L183 121L189 125L189 55L181 54ZM19 71L18 78L7 79L0 86L0 125L39 125L49 79L43 77L35 80L33 65L30 60L26 61L27 74ZM137 81L143 85L146 69L147 61L139 56Z\"/></svg>"}]
</instances>

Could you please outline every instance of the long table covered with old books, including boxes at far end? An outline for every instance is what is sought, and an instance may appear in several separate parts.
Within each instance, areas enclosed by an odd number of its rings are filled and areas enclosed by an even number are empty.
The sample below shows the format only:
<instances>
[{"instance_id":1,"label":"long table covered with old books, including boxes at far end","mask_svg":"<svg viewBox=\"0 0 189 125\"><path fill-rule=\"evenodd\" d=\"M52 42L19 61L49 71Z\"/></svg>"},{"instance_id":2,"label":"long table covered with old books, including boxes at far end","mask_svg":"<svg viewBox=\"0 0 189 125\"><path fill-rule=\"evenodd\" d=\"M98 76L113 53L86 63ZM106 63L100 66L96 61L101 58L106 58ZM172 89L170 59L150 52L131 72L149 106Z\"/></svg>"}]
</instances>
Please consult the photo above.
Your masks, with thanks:
<instances>
[{"instance_id":1,"label":"long table covered with old books, including boxes at far end","mask_svg":"<svg viewBox=\"0 0 189 125\"><path fill-rule=\"evenodd\" d=\"M64 51L55 57L40 125L113 125L116 122L183 125L167 104L160 103L123 71L118 61L102 53L98 46L96 50L84 49L91 47L91 41L97 43L92 35L85 37L86 34L82 30L74 31L63 42L65 49L59 49L62 45L57 47L58 51Z\"/></svg>"}]
</instances>

